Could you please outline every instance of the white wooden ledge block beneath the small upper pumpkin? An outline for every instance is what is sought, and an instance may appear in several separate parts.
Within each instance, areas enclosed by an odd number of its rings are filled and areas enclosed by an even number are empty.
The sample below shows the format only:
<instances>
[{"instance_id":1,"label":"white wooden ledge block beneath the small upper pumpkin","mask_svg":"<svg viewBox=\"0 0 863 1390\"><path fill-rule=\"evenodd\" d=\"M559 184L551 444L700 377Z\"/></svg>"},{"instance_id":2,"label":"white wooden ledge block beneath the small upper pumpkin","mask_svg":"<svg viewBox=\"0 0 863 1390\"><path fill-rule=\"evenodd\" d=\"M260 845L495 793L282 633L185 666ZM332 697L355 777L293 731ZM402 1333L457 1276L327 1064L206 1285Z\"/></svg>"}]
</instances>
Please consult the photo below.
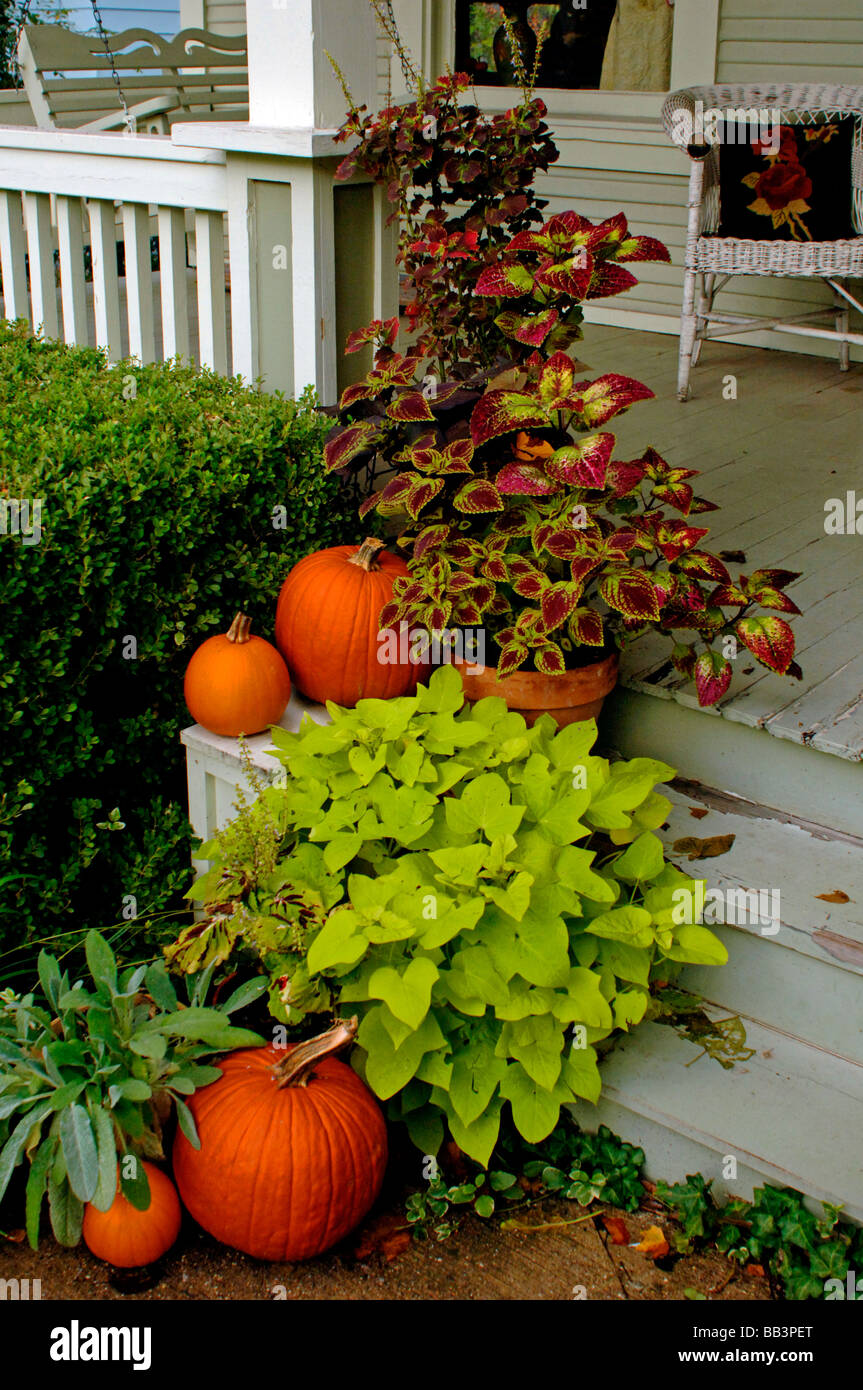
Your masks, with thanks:
<instances>
[{"instance_id":1,"label":"white wooden ledge block beneath the small upper pumpkin","mask_svg":"<svg viewBox=\"0 0 863 1390\"><path fill-rule=\"evenodd\" d=\"M321 705L313 705L296 692L279 720L281 728L292 733L300 727L303 714L310 714L318 724L328 724L329 714ZM239 738L221 738L210 734L200 724L183 728L179 735L186 749L186 777L189 783L189 820L196 835L204 844L213 838L236 815L236 792L250 791L249 778L243 770ZM282 764L272 752L270 733L247 738L252 764L267 781L272 781ZM197 873L203 873L207 862L192 858Z\"/></svg>"}]
</instances>

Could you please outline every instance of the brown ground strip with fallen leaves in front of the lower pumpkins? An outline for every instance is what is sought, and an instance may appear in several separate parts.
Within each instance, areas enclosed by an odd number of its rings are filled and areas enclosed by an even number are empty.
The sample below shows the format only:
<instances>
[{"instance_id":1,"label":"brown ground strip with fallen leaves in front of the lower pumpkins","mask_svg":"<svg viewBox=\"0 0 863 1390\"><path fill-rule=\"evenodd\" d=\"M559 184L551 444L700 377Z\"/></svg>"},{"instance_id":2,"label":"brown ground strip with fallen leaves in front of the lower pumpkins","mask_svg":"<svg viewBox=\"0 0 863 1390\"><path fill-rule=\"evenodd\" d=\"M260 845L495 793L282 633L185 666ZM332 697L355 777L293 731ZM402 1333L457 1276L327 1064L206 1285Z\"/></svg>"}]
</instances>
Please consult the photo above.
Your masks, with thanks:
<instances>
[{"instance_id":1,"label":"brown ground strip with fallen leaves in front of the lower pumpkins","mask_svg":"<svg viewBox=\"0 0 863 1390\"><path fill-rule=\"evenodd\" d=\"M628 1244L613 1244L602 1215L625 1222ZM659 1262L631 1245L667 1220L656 1213L584 1219L574 1202L543 1200L506 1213L534 1233L502 1230L500 1218L463 1218L446 1241L410 1240L403 1207L388 1201L336 1252L302 1265L271 1265L218 1245L186 1218L175 1248L145 1272L111 1270L82 1245L63 1250L49 1236L33 1252L22 1233L0 1240L0 1277L40 1279L42 1298L57 1300L766 1300L766 1279L718 1254ZM582 1218L577 1220L577 1218Z\"/></svg>"}]
</instances>

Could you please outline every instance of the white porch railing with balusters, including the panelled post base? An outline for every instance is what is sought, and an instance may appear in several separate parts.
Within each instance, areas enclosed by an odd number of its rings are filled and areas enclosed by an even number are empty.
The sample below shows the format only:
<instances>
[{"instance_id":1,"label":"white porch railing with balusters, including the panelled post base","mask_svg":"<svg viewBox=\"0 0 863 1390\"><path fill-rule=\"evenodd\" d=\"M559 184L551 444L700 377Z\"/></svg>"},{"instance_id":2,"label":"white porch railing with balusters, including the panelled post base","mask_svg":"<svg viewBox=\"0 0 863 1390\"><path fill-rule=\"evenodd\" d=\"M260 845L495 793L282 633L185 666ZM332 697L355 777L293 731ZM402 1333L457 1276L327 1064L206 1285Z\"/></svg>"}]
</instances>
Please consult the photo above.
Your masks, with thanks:
<instances>
[{"instance_id":1,"label":"white porch railing with balusters, including the panelled post base","mask_svg":"<svg viewBox=\"0 0 863 1390\"><path fill-rule=\"evenodd\" d=\"M397 307L389 210L334 183L339 157L331 132L239 124L0 128L0 313L111 361L179 354L332 403L364 370L349 329Z\"/></svg>"}]
</instances>

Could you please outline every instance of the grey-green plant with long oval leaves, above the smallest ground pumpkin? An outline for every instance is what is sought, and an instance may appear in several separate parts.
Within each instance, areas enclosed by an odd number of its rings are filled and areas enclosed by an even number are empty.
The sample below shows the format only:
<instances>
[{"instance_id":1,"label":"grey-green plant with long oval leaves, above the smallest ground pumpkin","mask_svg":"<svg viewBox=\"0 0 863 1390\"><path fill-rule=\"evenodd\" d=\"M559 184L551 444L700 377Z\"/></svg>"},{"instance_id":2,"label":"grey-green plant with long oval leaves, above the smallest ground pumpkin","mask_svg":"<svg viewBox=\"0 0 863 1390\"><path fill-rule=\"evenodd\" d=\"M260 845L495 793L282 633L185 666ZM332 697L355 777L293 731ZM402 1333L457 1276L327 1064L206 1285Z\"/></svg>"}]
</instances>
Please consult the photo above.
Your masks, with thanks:
<instances>
[{"instance_id":1,"label":"grey-green plant with long oval leaves, above the smallest ground pumpkin","mask_svg":"<svg viewBox=\"0 0 863 1390\"><path fill-rule=\"evenodd\" d=\"M0 1200L26 1161L33 1248L46 1191L63 1245L78 1244L85 1202L108 1209L118 1176L124 1195L146 1209L146 1172L124 1159L164 1156L161 1131L171 1108L199 1148L185 1098L221 1076L202 1058L261 1041L228 1019L261 994L263 981L243 986L214 1009L204 1008L211 972L189 980L183 1005L161 962L118 974L114 952L97 931L88 933L86 959L88 984L71 980L43 951L40 1001L11 990L0 994Z\"/></svg>"}]
</instances>

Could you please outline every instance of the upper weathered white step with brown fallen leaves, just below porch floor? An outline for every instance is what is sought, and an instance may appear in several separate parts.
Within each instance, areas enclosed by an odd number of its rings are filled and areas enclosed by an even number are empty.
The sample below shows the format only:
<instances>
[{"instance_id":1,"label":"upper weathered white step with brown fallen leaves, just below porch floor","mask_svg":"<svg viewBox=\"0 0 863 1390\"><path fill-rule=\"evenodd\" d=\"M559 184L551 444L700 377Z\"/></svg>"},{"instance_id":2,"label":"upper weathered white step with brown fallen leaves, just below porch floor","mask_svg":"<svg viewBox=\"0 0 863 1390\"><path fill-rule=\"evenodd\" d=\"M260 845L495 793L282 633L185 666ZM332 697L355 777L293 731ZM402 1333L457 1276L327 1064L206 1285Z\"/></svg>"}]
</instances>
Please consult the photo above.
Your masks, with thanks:
<instances>
[{"instance_id":1,"label":"upper weathered white step with brown fallen leaves, just below porch floor","mask_svg":"<svg viewBox=\"0 0 863 1390\"><path fill-rule=\"evenodd\" d=\"M863 1063L863 844L707 788L670 795L674 809L661 833L670 856L725 902L738 894L737 923L713 927L728 965L689 967L681 983L730 1013ZM707 815L695 817L692 809ZM731 849L713 859L689 860L673 849L687 837L730 834ZM741 920L741 890L763 890L764 906L778 895L778 931ZM849 901L819 898L837 890Z\"/></svg>"}]
</instances>

